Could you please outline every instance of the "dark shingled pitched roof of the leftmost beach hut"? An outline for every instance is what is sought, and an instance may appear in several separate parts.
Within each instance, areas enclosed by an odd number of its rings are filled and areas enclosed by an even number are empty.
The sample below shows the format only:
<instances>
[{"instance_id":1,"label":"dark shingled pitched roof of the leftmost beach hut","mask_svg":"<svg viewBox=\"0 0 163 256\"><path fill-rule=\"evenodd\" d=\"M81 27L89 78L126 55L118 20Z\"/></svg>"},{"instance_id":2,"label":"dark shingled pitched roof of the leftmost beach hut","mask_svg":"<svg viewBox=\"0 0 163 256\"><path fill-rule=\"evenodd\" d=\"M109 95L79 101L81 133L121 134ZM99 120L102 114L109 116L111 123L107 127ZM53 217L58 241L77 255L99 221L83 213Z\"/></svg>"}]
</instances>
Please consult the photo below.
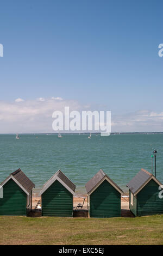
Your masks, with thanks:
<instances>
[{"instance_id":1,"label":"dark shingled pitched roof of the leftmost beach hut","mask_svg":"<svg viewBox=\"0 0 163 256\"><path fill-rule=\"evenodd\" d=\"M13 179L18 186L20 186L24 192L27 194L32 191L32 189L35 187L34 183L22 172L21 169L15 170L15 172L11 173L2 183L1 186L3 186L5 183L8 182L8 180Z\"/></svg>"}]
</instances>

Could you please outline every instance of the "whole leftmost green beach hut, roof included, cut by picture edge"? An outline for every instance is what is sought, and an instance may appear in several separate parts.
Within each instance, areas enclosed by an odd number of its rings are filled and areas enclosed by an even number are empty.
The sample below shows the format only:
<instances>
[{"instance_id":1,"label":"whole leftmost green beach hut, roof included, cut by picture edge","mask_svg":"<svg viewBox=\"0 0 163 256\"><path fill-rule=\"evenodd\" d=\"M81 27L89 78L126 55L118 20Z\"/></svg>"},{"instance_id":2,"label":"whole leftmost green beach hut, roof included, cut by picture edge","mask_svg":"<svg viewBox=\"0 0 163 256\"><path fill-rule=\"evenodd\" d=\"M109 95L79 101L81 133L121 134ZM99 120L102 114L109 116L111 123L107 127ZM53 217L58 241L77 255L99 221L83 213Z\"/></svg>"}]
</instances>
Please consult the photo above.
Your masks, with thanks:
<instances>
[{"instance_id":1,"label":"whole leftmost green beach hut, roof included, cut by picture edge","mask_svg":"<svg viewBox=\"0 0 163 256\"><path fill-rule=\"evenodd\" d=\"M27 215L34 186L21 169L11 173L0 185L0 215Z\"/></svg>"}]
</instances>

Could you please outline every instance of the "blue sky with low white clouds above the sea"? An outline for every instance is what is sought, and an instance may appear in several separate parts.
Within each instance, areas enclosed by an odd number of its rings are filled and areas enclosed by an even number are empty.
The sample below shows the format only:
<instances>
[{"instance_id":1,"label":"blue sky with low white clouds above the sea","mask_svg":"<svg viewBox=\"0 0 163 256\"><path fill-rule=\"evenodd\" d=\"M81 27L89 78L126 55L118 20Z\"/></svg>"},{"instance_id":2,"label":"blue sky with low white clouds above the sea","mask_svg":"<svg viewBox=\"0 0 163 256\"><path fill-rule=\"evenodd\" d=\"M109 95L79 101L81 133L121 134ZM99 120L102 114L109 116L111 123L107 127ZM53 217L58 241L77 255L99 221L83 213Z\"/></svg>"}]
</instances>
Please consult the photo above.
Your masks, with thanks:
<instances>
[{"instance_id":1,"label":"blue sky with low white clouds above the sea","mask_svg":"<svg viewBox=\"0 0 163 256\"><path fill-rule=\"evenodd\" d=\"M1 1L0 133L52 113L111 111L111 131L163 131L160 0Z\"/></svg>"}]
</instances>

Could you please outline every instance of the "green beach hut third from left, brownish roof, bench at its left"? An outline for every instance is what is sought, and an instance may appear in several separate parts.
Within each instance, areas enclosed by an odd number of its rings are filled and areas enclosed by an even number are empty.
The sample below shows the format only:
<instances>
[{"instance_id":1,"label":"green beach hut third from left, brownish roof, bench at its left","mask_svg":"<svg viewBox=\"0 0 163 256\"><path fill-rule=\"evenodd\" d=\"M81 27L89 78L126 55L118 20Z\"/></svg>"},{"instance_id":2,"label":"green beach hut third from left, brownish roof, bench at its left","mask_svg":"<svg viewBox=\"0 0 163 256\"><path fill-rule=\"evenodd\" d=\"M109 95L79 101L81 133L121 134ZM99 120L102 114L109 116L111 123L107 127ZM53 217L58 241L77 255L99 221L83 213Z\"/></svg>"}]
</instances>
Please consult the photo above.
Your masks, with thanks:
<instances>
[{"instance_id":1,"label":"green beach hut third from left, brownish roof, bench at its left","mask_svg":"<svg viewBox=\"0 0 163 256\"><path fill-rule=\"evenodd\" d=\"M86 185L89 217L121 216L121 194L123 191L103 170L99 170Z\"/></svg>"}]
</instances>

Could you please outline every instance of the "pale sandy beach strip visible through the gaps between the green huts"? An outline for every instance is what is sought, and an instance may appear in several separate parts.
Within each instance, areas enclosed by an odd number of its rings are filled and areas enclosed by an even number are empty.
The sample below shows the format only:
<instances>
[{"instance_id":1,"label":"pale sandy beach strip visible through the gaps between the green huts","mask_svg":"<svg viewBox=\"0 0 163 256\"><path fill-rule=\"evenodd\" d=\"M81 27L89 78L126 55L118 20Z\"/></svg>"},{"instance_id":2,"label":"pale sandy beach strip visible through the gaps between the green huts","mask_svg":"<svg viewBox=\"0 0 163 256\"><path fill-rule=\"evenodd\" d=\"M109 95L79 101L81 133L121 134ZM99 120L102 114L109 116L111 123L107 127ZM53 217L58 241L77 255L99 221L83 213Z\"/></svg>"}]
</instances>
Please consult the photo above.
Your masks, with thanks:
<instances>
[{"instance_id":1,"label":"pale sandy beach strip visible through the gaps between the green huts","mask_svg":"<svg viewBox=\"0 0 163 256\"><path fill-rule=\"evenodd\" d=\"M76 206L80 203L83 204L83 200L85 198L85 202L83 205L83 209L86 210L87 209L87 196L86 195L82 195L82 196L76 196L73 197L73 207L76 208ZM35 209L35 206L37 204L37 202L41 200L41 197L34 197L32 198L32 209ZM41 206L41 204L39 204L39 206ZM121 197L121 206L122 209L129 209L129 198L126 197Z\"/></svg>"}]
</instances>

